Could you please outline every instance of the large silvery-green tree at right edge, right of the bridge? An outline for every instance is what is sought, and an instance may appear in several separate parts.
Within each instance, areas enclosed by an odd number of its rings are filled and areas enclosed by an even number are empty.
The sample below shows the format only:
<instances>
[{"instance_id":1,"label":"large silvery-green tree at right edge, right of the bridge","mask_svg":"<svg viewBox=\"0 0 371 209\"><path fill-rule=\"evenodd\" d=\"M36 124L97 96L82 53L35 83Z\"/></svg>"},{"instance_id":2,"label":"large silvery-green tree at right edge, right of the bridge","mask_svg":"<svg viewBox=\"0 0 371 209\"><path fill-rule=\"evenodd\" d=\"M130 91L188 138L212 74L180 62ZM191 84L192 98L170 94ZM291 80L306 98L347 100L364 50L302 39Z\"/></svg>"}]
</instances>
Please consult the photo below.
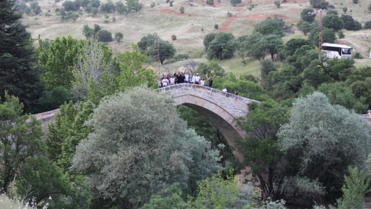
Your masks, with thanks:
<instances>
[{"instance_id":1,"label":"large silvery-green tree at right edge, right of the bridge","mask_svg":"<svg viewBox=\"0 0 371 209\"><path fill-rule=\"evenodd\" d=\"M355 112L314 93L294 102L290 122L278 136L281 150L297 159L298 175L318 179L327 195L338 195L347 167L367 158L371 128Z\"/></svg>"}]
</instances>

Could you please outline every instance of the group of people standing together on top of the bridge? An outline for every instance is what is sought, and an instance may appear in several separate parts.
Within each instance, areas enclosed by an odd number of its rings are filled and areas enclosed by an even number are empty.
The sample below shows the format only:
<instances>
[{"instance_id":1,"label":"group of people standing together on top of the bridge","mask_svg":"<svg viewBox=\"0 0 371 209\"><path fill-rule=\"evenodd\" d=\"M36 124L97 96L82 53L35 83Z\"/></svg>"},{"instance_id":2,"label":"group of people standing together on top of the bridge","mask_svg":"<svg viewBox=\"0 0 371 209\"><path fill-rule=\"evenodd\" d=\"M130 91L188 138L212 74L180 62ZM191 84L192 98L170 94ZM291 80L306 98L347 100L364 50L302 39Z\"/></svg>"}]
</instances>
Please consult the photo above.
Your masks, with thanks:
<instances>
[{"instance_id":1,"label":"group of people standing together on top of the bridge","mask_svg":"<svg viewBox=\"0 0 371 209\"><path fill-rule=\"evenodd\" d=\"M183 72L176 72L174 75L171 75L168 73L167 75L164 73L162 74L162 78L158 79L159 87L165 87L168 85L175 85L178 83L194 83L198 85L208 86L212 88L212 82L214 81L214 78L216 75L212 77L208 77L207 75L206 79L208 80L208 84L206 85L206 81L203 77L200 77L198 73L196 73L196 76L193 74L193 72L188 72L187 70Z\"/></svg>"}]
</instances>

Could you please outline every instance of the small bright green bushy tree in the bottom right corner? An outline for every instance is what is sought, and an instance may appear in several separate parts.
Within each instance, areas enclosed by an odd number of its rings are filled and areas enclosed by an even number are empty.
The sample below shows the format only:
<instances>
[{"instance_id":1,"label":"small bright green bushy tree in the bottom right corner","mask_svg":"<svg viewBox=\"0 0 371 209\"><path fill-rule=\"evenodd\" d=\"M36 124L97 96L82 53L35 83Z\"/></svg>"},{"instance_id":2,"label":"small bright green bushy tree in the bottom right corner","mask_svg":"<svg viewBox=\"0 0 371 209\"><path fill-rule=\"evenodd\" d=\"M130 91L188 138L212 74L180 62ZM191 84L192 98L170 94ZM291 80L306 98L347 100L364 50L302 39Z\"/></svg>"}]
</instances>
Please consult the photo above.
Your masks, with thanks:
<instances>
[{"instance_id":1,"label":"small bright green bushy tree in the bottom right corner","mask_svg":"<svg viewBox=\"0 0 371 209\"><path fill-rule=\"evenodd\" d=\"M364 195L370 192L369 180L363 170L349 167L349 175L344 175L343 197L337 199L339 209L363 208Z\"/></svg>"}]
</instances>

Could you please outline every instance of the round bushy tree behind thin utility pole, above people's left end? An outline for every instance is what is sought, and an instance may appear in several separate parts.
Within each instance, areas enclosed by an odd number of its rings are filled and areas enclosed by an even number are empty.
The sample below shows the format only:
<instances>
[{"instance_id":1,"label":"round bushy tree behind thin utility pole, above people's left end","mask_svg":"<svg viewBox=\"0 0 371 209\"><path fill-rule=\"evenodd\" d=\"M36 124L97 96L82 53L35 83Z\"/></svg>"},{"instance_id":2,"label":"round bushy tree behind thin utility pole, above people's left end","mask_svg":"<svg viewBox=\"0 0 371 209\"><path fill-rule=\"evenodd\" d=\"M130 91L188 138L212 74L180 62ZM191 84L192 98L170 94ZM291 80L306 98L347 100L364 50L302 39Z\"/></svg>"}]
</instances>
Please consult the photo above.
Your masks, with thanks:
<instances>
[{"instance_id":1,"label":"round bushy tree behind thin utility pole, above people's left end","mask_svg":"<svg viewBox=\"0 0 371 209\"><path fill-rule=\"evenodd\" d=\"M154 42L148 48L148 55L152 56L154 59L160 59L161 65L164 63L166 58L171 58L175 55L176 49L173 44L169 41L158 41Z\"/></svg>"}]
</instances>

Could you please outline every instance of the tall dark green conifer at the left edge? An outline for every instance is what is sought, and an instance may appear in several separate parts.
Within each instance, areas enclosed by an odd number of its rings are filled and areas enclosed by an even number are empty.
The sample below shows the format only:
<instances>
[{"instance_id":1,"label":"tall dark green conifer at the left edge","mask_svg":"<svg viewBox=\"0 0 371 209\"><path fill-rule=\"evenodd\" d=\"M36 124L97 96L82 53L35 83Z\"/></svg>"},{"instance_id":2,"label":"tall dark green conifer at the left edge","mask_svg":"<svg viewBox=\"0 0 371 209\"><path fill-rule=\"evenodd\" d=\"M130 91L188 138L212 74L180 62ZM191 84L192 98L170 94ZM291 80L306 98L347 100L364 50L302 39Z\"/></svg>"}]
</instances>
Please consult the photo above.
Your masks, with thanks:
<instances>
[{"instance_id":1,"label":"tall dark green conifer at the left edge","mask_svg":"<svg viewBox=\"0 0 371 209\"><path fill-rule=\"evenodd\" d=\"M29 111L38 98L39 72L33 41L26 27L20 23L13 0L0 1L0 97L4 92L17 96Z\"/></svg>"}]
</instances>

